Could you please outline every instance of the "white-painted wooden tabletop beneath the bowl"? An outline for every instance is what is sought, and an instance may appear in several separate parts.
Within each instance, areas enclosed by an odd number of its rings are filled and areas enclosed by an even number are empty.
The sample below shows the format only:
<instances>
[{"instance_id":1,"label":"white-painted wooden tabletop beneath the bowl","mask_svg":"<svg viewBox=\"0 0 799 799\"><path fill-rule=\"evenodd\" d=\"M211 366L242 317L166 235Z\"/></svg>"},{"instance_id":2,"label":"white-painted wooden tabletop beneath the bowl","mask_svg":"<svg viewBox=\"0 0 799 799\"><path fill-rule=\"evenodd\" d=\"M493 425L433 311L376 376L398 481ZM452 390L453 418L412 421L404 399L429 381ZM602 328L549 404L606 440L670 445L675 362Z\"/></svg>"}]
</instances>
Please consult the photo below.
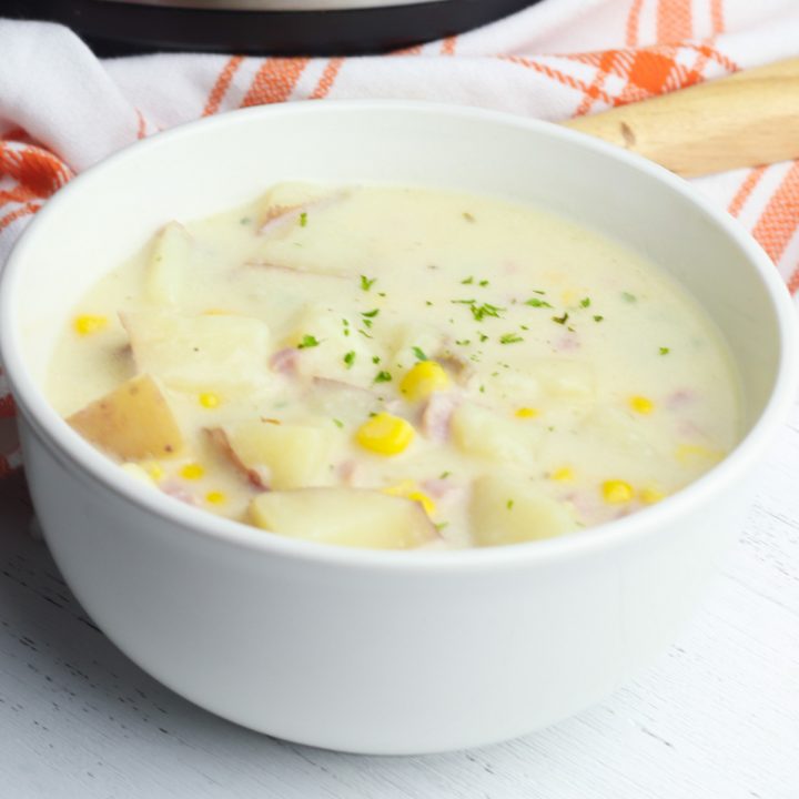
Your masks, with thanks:
<instances>
[{"instance_id":1,"label":"white-painted wooden tabletop beneath the bowl","mask_svg":"<svg viewBox=\"0 0 799 799\"><path fill-rule=\"evenodd\" d=\"M799 799L799 405L681 639L559 726L474 751L356 757L251 732L133 666L0 485L0 798Z\"/></svg>"}]
</instances>

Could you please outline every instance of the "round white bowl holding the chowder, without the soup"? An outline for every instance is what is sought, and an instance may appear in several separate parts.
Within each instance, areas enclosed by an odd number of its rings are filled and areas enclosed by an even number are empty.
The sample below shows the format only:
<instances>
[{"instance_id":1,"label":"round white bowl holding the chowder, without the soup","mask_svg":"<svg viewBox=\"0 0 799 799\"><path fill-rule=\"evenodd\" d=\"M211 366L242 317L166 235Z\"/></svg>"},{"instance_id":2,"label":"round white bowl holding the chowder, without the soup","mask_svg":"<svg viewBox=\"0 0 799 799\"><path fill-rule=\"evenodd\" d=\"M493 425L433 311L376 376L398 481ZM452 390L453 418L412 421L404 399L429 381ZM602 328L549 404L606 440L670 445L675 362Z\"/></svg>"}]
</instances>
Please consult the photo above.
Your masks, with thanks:
<instances>
[{"instance_id":1,"label":"round white bowl holding the chowder, without the soup","mask_svg":"<svg viewBox=\"0 0 799 799\"><path fill-rule=\"evenodd\" d=\"M74 301L166 220L282 180L388 181L537 203L638 247L725 333L745 436L630 517L544 543L341 549L221 520L140 486L43 391ZM635 331L630 331L634 335ZM143 141L72 181L2 276L2 358L48 544L102 630L190 700L281 738L431 752L550 725L676 636L734 539L792 400L797 330L751 239L678 178L556 125L414 103L252 109Z\"/></svg>"}]
</instances>

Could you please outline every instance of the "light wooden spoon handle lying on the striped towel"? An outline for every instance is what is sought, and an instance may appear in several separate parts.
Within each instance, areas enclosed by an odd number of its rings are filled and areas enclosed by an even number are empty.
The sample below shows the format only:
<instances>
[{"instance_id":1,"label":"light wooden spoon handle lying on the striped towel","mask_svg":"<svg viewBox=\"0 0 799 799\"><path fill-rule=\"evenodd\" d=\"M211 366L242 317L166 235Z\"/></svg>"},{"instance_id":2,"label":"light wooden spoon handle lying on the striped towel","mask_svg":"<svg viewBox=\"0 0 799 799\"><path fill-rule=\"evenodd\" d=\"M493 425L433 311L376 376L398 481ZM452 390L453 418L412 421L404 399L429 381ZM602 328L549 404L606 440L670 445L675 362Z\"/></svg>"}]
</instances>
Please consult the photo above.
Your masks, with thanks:
<instances>
[{"instance_id":1,"label":"light wooden spoon handle lying on the striped towel","mask_svg":"<svg viewBox=\"0 0 799 799\"><path fill-rule=\"evenodd\" d=\"M686 176L799 158L799 59L564 124Z\"/></svg>"}]
</instances>

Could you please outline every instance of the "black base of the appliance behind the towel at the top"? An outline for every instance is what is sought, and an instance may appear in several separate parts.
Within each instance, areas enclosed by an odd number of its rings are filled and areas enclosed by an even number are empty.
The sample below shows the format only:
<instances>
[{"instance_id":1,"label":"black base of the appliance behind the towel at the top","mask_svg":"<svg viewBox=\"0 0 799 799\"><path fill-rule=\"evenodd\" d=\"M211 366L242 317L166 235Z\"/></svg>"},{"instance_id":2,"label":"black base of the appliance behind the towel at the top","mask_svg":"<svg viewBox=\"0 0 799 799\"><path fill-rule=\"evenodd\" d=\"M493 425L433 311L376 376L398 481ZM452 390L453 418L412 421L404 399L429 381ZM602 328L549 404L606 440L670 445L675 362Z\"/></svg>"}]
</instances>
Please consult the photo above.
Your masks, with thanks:
<instances>
[{"instance_id":1,"label":"black base of the appliance behind the towel at the top","mask_svg":"<svg viewBox=\"0 0 799 799\"><path fill-rule=\"evenodd\" d=\"M154 50L353 55L455 36L537 1L6 0L2 13L63 22L100 55Z\"/></svg>"}]
</instances>

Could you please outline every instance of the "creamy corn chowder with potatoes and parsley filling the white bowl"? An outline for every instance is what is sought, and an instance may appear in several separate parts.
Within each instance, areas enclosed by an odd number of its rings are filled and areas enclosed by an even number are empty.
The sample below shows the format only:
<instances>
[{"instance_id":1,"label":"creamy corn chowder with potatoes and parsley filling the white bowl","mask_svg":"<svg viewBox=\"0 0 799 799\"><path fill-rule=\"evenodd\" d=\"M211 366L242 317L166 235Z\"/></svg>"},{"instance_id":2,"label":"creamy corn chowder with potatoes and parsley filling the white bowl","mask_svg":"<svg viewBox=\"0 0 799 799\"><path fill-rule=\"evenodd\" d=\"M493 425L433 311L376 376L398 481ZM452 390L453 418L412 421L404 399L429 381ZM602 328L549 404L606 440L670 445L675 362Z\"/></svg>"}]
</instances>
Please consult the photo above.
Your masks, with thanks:
<instances>
[{"instance_id":1,"label":"creamy corn chowder with potatoes and parsley filling the white bowl","mask_svg":"<svg viewBox=\"0 0 799 799\"><path fill-rule=\"evenodd\" d=\"M640 255L539 210L280 184L79 303L49 393L153 490L376 548L548 538L734 446L731 362Z\"/></svg>"}]
</instances>

